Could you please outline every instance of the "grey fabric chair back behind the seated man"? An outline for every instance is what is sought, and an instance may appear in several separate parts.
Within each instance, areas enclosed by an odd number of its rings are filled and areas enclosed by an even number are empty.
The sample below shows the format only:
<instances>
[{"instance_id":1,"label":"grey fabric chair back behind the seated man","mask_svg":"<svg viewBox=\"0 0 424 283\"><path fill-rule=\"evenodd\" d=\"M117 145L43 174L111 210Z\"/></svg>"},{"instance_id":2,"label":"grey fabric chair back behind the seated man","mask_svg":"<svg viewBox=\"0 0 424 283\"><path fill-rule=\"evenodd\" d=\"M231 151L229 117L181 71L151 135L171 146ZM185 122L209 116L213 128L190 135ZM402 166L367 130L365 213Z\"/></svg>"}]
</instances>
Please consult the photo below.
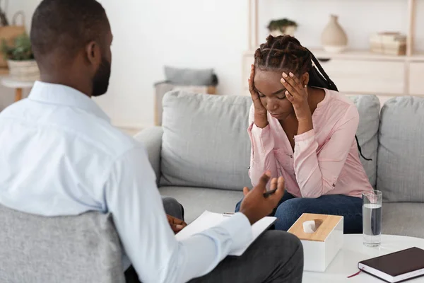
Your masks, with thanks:
<instances>
[{"instance_id":1,"label":"grey fabric chair back behind the seated man","mask_svg":"<svg viewBox=\"0 0 424 283\"><path fill-rule=\"evenodd\" d=\"M0 227L0 282L124 282L112 214L44 217L0 205Z\"/></svg>"}]
</instances>

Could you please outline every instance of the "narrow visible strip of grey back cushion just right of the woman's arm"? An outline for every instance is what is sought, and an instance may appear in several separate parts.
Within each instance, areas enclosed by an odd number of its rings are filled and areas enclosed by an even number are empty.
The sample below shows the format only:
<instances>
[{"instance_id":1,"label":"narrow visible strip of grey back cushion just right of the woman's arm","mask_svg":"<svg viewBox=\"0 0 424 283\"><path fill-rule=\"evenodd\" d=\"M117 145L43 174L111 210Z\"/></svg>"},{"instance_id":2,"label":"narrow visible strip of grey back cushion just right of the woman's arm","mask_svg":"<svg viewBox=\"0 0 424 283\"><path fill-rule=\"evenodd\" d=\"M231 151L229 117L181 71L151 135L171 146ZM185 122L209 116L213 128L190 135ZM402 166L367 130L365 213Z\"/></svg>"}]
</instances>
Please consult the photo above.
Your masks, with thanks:
<instances>
[{"instance_id":1,"label":"narrow visible strip of grey back cushion just right of the woman's arm","mask_svg":"<svg viewBox=\"0 0 424 283\"><path fill-rule=\"evenodd\" d=\"M362 149L363 156L367 159L372 159L367 161L361 156L360 161L363 163L372 187L375 187L377 183L379 99L377 96L353 96L351 99L359 112L359 125L356 135L360 148Z\"/></svg>"}]
</instances>

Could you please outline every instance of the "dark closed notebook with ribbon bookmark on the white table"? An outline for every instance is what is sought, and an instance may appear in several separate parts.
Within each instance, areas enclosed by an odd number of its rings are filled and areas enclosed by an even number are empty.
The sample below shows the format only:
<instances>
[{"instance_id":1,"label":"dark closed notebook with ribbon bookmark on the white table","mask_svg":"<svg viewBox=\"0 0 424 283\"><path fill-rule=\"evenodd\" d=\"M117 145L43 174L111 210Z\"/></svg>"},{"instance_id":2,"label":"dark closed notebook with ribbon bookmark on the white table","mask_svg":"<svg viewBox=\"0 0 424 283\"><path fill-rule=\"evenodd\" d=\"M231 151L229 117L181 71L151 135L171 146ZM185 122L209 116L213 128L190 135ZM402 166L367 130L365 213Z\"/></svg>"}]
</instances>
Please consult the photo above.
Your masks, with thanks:
<instances>
[{"instance_id":1,"label":"dark closed notebook with ribbon bookmark on the white table","mask_svg":"<svg viewBox=\"0 0 424 283\"><path fill-rule=\"evenodd\" d=\"M389 283L424 275L424 250L408 248L358 263L358 268Z\"/></svg>"}]
</instances>

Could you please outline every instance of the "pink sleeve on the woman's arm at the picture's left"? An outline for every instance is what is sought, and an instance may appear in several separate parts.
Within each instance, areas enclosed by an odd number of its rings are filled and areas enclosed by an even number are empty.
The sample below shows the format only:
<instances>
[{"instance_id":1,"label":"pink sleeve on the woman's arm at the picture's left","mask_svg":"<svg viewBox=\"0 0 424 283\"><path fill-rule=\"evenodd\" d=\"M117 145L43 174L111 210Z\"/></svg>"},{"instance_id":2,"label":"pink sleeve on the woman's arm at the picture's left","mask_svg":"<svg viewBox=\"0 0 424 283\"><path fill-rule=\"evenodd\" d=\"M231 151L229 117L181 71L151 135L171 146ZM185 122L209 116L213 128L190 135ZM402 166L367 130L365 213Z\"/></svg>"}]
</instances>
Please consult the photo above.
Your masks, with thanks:
<instances>
[{"instance_id":1,"label":"pink sleeve on the woman's arm at the picture's left","mask_svg":"<svg viewBox=\"0 0 424 283\"><path fill-rule=\"evenodd\" d=\"M249 112L249 128L247 129L247 133L252 143L249 169L249 177L252 180L252 185L256 186L259 183L259 178L266 171L271 172L271 178L277 178L278 171L276 157L273 154L274 140L271 134L271 128L269 124L263 129L254 124L253 105Z\"/></svg>"}]
</instances>

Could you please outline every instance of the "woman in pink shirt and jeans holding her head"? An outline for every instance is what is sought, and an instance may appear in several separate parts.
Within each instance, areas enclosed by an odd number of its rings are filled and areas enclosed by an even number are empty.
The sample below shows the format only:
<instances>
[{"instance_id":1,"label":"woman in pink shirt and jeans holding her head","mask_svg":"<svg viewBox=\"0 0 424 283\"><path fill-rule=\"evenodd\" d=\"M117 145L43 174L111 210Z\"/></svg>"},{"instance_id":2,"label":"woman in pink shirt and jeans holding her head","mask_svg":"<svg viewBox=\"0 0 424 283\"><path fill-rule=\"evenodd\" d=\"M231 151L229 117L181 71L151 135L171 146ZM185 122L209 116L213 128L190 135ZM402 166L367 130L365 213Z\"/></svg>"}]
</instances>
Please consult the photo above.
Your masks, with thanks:
<instances>
[{"instance_id":1,"label":"woman in pink shirt and jeans holding her head","mask_svg":"<svg viewBox=\"0 0 424 283\"><path fill-rule=\"evenodd\" d=\"M355 105L288 35L270 35L255 52L249 91L252 185L265 171L285 179L276 229L287 231L307 212L344 216L345 233L361 233L361 197L372 186L355 140Z\"/></svg>"}]
</instances>

